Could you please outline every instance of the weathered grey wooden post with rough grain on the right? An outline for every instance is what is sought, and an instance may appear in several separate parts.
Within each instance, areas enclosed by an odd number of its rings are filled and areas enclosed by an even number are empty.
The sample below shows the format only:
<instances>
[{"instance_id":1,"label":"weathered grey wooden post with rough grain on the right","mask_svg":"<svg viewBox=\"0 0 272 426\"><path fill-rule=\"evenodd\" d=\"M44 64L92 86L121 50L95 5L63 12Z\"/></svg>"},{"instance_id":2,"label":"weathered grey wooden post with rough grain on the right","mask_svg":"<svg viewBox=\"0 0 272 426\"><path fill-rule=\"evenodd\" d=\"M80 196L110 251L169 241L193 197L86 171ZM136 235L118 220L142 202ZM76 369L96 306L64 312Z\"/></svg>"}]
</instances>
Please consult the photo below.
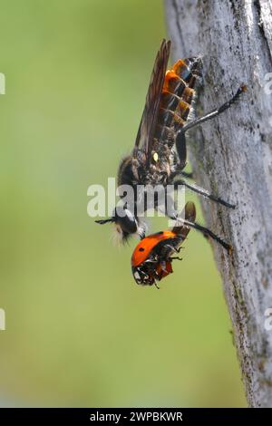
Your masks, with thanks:
<instances>
[{"instance_id":1,"label":"weathered grey wooden post with rough grain on the right","mask_svg":"<svg viewBox=\"0 0 272 426\"><path fill-rule=\"evenodd\" d=\"M213 244L233 323L248 405L272 407L272 1L165 0L173 60L203 57L197 115L248 92L230 110L191 131L196 181L235 210L202 200L209 228L234 247ZM271 80L271 77L270 77ZM272 87L272 84L268 87Z\"/></svg>"}]
</instances>

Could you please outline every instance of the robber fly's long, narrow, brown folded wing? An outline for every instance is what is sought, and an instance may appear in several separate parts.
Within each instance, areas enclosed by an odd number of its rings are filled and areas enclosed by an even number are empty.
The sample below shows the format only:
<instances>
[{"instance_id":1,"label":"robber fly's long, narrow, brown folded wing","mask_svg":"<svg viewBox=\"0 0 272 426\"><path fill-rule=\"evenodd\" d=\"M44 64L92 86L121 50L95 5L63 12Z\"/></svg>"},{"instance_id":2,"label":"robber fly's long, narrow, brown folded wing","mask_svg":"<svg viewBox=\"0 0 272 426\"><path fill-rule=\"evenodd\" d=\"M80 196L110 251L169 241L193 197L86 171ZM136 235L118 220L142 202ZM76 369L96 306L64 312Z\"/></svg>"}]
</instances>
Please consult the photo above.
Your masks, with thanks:
<instances>
[{"instance_id":1,"label":"robber fly's long, narrow, brown folded wing","mask_svg":"<svg viewBox=\"0 0 272 426\"><path fill-rule=\"evenodd\" d=\"M142 146L147 161L151 154L151 147L154 138L154 131L157 123L158 112L160 108L160 96L162 92L167 63L170 55L170 41L162 40L160 50L157 53L153 71L151 73L151 82L147 92L144 110L141 116L141 123L137 133L134 155L137 149Z\"/></svg>"}]
</instances>

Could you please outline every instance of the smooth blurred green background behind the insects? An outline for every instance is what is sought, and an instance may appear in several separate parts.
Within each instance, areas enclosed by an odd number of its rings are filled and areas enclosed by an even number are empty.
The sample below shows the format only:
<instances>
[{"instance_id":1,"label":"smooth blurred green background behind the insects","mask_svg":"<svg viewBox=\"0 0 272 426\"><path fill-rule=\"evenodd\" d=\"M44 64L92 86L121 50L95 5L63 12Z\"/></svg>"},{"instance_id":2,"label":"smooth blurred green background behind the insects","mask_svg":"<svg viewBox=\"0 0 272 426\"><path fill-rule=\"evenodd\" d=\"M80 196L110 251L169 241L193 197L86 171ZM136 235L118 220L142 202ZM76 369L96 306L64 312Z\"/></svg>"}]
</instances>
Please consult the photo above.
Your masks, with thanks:
<instances>
[{"instance_id":1,"label":"smooth blurred green background behind the insects","mask_svg":"<svg viewBox=\"0 0 272 426\"><path fill-rule=\"evenodd\" d=\"M205 239L143 288L136 240L112 247L86 213L131 150L164 36L157 0L1 2L2 406L246 405Z\"/></svg>"}]
</instances>

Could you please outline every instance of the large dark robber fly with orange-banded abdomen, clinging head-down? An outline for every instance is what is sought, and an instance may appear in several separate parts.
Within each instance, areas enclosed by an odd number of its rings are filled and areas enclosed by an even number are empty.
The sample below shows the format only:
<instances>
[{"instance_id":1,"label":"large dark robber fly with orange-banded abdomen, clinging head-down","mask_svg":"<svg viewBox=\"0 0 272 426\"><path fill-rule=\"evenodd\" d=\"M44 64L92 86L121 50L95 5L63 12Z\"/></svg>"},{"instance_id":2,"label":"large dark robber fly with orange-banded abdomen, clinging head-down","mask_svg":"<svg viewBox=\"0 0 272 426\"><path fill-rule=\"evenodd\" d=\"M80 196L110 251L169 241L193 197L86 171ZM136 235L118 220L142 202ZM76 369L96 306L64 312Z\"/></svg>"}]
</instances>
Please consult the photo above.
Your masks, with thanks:
<instances>
[{"instance_id":1,"label":"large dark robber fly with orange-banded abdomen, clinging head-down","mask_svg":"<svg viewBox=\"0 0 272 426\"><path fill-rule=\"evenodd\" d=\"M201 76L202 63L199 57L180 59L166 71L169 55L170 41L163 40L151 73L151 82L133 150L131 155L121 160L119 167L118 186L130 185L133 189L133 199L129 204L124 203L121 210L115 208L112 218L96 220L99 224L112 222L122 241L134 233L141 238L144 237L145 228L141 226L137 207L141 203L143 211L147 209L146 189L150 185L152 187L162 185L164 188L173 185L174 189L183 185L228 208L235 207L185 179L189 177L183 171L187 164L185 132L226 111L246 90L246 86L241 86L238 92L219 108L187 123L195 97L196 82ZM137 196L139 185L143 187L141 199ZM170 218L177 218L172 211L166 211L166 214Z\"/></svg>"}]
</instances>

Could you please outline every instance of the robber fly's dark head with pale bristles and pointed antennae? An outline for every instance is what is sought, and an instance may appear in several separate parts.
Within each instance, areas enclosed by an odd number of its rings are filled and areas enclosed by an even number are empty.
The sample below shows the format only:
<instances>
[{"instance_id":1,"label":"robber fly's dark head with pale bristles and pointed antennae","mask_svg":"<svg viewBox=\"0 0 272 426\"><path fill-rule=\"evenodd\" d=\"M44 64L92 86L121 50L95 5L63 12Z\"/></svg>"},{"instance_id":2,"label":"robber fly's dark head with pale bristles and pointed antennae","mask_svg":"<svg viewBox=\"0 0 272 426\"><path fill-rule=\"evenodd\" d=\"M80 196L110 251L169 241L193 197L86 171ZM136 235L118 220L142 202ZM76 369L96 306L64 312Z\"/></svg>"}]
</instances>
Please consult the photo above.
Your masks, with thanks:
<instances>
[{"instance_id":1,"label":"robber fly's dark head with pale bristles and pointed antennae","mask_svg":"<svg viewBox=\"0 0 272 426\"><path fill-rule=\"evenodd\" d=\"M140 223L139 219L133 215L126 205L114 208L112 218L95 220L95 222L101 225L112 222L115 228L115 236L121 243L125 243L133 234L138 234L141 238L145 236L145 225Z\"/></svg>"}]
</instances>

